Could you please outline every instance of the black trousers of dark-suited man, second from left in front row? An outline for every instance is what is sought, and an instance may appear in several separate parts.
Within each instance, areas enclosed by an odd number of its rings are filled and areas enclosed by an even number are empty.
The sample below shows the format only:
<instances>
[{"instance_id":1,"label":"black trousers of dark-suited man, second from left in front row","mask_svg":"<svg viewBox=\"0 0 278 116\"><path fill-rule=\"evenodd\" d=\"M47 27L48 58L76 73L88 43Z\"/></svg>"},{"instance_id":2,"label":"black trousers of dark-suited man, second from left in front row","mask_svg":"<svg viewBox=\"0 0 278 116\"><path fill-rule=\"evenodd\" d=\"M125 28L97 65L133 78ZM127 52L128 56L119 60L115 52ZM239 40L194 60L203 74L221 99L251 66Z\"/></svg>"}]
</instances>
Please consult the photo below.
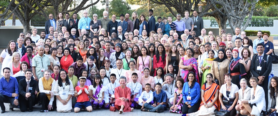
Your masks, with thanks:
<instances>
[{"instance_id":1,"label":"black trousers of dark-suited man, second from left in front row","mask_svg":"<svg viewBox=\"0 0 278 116\"><path fill-rule=\"evenodd\" d=\"M27 110L27 108L29 108L29 110L33 110L33 104L35 102L35 95L31 95L28 100L26 100L25 98L20 98L19 100L19 107L20 107L20 111L21 112L25 112Z\"/></svg>"}]
</instances>

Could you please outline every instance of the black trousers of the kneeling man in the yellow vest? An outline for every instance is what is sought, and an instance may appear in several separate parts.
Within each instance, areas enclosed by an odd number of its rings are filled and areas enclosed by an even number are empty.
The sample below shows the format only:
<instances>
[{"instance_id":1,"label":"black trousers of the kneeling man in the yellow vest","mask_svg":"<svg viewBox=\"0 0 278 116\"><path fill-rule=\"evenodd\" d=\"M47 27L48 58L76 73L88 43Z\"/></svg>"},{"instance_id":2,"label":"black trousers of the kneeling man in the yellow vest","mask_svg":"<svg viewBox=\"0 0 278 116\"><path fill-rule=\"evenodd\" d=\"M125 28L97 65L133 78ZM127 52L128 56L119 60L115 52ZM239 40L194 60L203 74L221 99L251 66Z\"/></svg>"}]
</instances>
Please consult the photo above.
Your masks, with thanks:
<instances>
[{"instance_id":1,"label":"black trousers of the kneeling man in the yellow vest","mask_svg":"<svg viewBox=\"0 0 278 116\"><path fill-rule=\"evenodd\" d=\"M39 93L38 96L39 96L39 100L41 101L41 104L42 104L41 110L47 109L47 106L48 106L48 104L49 104L49 102L50 102L49 99L47 98L47 95L46 95L45 93ZM54 111L54 109L57 108L55 97L54 97L54 100L53 100L53 103L52 103L52 108L53 108L53 109L51 109L51 110L49 110L49 111Z\"/></svg>"}]
</instances>

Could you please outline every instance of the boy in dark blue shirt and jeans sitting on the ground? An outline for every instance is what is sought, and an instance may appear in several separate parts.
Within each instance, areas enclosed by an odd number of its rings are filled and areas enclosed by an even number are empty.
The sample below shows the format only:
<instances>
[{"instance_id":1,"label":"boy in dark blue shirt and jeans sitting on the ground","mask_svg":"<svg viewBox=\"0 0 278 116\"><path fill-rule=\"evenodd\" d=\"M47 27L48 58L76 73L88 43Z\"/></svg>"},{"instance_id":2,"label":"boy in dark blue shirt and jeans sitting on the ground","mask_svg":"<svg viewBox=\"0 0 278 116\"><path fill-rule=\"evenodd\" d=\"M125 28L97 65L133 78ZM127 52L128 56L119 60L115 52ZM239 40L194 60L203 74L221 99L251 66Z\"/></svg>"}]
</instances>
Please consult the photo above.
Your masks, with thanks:
<instances>
[{"instance_id":1,"label":"boy in dark blue shirt and jeans sitting on the ground","mask_svg":"<svg viewBox=\"0 0 278 116\"><path fill-rule=\"evenodd\" d=\"M145 107L142 111L148 111L148 112L157 112L161 113L166 109L166 100L167 95L164 91L161 91L162 85L160 83L156 83L156 91L153 92L153 101L154 104L144 104Z\"/></svg>"}]
</instances>

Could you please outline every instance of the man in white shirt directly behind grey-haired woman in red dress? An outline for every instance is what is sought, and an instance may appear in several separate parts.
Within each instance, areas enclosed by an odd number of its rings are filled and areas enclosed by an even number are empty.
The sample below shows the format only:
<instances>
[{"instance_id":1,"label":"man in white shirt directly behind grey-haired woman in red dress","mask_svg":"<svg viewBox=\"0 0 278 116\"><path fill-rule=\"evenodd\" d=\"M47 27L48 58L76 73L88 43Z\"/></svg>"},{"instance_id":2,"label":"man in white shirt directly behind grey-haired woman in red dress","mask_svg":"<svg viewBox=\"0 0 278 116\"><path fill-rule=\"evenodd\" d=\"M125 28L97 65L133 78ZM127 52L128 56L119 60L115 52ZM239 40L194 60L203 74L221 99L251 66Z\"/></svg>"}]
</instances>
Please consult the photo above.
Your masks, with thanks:
<instances>
[{"instance_id":1,"label":"man in white shirt directly behind grey-haired woman in red dress","mask_svg":"<svg viewBox=\"0 0 278 116\"><path fill-rule=\"evenodd\" d=\"M112 69L111 70L111 74L115 74L116 75L116 78L117 78L116 82L119 83L120 77L124 76L124 74L126 73L127 70L122 69L122 65L123 65L122 64L122 59L118 59L116 61L116 65L117 65L117 68L116 69Z\"/></svg>"}]
</instances>

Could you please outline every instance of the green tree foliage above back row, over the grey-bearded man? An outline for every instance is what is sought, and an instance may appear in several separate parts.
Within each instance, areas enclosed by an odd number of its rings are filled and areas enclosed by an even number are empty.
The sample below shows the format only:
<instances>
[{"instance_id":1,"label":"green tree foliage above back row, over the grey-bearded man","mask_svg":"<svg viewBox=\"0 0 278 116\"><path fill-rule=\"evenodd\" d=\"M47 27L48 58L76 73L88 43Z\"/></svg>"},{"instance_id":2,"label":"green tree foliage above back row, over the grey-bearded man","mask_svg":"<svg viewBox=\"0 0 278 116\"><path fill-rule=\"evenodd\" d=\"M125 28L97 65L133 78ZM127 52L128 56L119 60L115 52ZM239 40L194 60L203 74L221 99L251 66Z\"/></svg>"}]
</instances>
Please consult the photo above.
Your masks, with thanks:
<instances>
[{"instance_id":1,"label":"green tree foliage above back row, over the grey-bearded man","mask_svg":"<svg viewBox=\"0 0 278 116\"><path fill-rule=\"evenodd\" d=\"M123 0L113 0L109 3L109 7L110 15L115 14L117 17L119 17L120 14L126 14L131 9L129 4Z\"/></svg>"}]
</instances>

